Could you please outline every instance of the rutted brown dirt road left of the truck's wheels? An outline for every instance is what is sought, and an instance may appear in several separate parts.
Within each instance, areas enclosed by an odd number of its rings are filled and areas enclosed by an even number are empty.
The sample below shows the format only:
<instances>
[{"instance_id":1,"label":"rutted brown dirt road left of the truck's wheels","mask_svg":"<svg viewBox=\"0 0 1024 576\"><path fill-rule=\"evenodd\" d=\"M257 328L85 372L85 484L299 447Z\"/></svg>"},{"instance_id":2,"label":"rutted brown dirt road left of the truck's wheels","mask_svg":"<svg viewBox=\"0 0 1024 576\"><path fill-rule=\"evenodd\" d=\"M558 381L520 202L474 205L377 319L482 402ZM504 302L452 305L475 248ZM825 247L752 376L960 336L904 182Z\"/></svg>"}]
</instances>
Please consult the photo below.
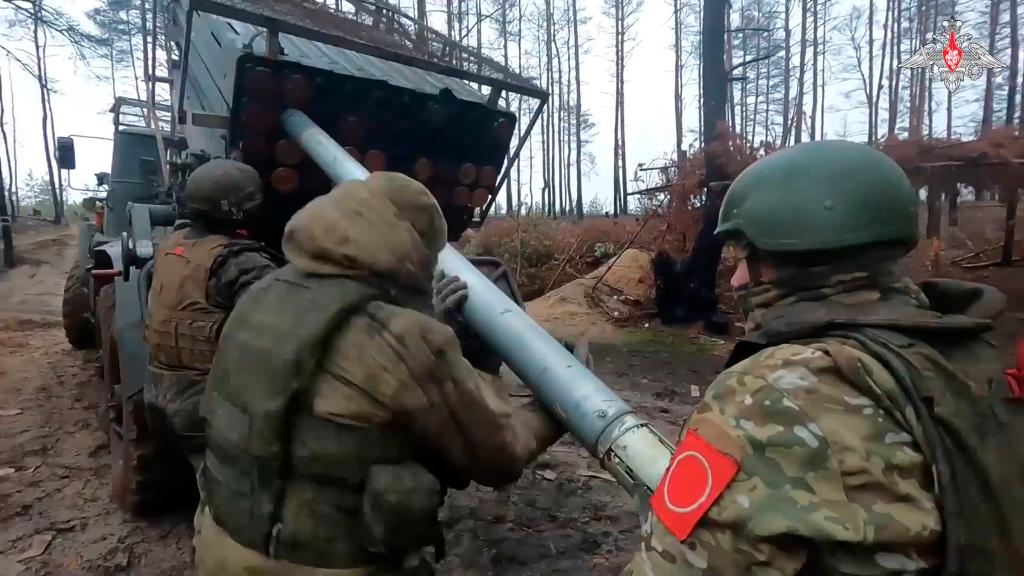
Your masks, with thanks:
<instances>
[{"instance_id":1,"label":"rutted brown dirt road left of the truck's wheels","mask_svg":"<svg viewBox=\"0 0 1024 576\"><path fill-rule=\"evenodd\" d=\"M0 276L0 576L186 573L184 517L138 523L111 503L93 354L60 327L73 233L37 227L17 241L22 265Z\"/></svg>"}]
</instances>

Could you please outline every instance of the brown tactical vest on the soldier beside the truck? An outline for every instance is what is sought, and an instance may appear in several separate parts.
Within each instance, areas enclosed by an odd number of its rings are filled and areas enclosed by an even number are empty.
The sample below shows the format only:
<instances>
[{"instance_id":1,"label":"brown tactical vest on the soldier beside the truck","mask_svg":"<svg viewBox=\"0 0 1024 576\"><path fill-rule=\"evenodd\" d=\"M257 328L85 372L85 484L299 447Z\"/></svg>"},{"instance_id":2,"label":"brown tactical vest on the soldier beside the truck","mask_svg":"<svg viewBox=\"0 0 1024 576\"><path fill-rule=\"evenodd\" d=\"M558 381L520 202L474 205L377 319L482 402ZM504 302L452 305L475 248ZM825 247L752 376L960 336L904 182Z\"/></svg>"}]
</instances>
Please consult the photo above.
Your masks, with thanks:
<instances>
[{"instance_id":1,"label":"brown tactical vest on the soldier beside the truck","mask_svg":"<svg viewBox=\"0 0 1024 576\"><path fill-rule=\"evenodd\" d=\"M210 269L230 238L188 239L187 232L173 232L157 247L145 342L152 366L206 374L227 315L207 301Z\"/></svg>"}]
</instances>

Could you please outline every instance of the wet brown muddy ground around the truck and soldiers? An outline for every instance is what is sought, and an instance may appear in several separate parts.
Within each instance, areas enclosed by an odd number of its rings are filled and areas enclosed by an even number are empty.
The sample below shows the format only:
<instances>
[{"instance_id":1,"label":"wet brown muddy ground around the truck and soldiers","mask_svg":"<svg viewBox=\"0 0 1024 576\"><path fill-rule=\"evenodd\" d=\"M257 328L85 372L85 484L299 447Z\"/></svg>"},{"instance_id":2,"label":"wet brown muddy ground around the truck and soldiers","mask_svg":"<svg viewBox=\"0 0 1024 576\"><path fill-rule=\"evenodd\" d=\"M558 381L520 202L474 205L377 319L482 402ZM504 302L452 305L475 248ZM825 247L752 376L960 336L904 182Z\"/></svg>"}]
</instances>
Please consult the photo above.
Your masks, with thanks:
<instances>
[{"instance_id":1,"label":"wet brown muddy ground around the truck and soldiers","mask_svg":"<svg viewBox=\"0 0 1024 576\"><path fill-rule=\"evenodd\" d=\"M93 355L73 351L59 320L74 250L66 229L17 235L22 265L0 272L0 576L191 574L190 511L139 521L110 499L96 430ZM996 336L1024 333L1024 270L979 273L1012 293ZM599 375L669 438L724 362L727 345L683 332L626 331L595 344ZM1008 355L1009 359L1009 355ZM443 511L442 574L616 574L636 543L625 492L569 439L514 486L471 487Z\"/></svg>"}]
</instances>

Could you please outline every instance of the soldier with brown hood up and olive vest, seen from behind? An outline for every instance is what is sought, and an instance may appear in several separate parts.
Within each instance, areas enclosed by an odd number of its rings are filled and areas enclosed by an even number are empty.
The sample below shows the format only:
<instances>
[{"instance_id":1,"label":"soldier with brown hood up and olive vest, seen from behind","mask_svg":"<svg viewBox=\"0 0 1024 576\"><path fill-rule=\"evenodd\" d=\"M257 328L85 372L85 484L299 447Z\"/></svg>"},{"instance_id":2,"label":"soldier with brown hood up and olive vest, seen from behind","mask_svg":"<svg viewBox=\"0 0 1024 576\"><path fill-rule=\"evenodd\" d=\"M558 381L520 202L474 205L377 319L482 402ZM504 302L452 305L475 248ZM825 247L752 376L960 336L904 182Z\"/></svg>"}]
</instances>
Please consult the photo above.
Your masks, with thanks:
<instances>
[{"instance_id":1,"label":"soldier with brown hood up and olive vest, seen from behind","mask_svg":"<svg viewBox=\"0 0 1024 576\"><path fill-rule=\"evenodd\" d=\"M289 221L289 263L228 318L203 399L200 576L432 574L445 491L512 483L562 435L438 321L465 300L455 277L431 293L446 238L389 172Z\"/></svg>"}]
</instances>

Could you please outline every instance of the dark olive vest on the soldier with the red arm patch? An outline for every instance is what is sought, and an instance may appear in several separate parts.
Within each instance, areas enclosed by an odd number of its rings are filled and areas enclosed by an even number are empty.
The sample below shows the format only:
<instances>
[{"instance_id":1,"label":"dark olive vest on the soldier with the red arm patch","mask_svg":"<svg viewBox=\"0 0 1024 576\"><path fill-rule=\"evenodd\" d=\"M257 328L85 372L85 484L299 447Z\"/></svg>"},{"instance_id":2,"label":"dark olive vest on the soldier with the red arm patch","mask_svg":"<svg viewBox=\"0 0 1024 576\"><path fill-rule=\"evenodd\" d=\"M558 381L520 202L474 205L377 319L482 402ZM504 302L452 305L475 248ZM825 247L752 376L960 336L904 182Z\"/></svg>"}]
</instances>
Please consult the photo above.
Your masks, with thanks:
<instances>
[{"instance_id":1,"label":"dark olive vest on the soldier with the red arm patch","mask_svg":"<svg viewBox=\"0 0 1024 576\"><path fill-rule=\"evenodd\" d=\"M760 341L735 363L784 342L835 340L866 353L894 378L883 390L920 423L938 489L947 575L1016 576L1024 567L1024 403L1010 398L990 323L909 305L797 302L772 307ZM856 385L856 382L851 382ZM877 394L860 390L865 396Z\"/></svg>"}]
</instances>

